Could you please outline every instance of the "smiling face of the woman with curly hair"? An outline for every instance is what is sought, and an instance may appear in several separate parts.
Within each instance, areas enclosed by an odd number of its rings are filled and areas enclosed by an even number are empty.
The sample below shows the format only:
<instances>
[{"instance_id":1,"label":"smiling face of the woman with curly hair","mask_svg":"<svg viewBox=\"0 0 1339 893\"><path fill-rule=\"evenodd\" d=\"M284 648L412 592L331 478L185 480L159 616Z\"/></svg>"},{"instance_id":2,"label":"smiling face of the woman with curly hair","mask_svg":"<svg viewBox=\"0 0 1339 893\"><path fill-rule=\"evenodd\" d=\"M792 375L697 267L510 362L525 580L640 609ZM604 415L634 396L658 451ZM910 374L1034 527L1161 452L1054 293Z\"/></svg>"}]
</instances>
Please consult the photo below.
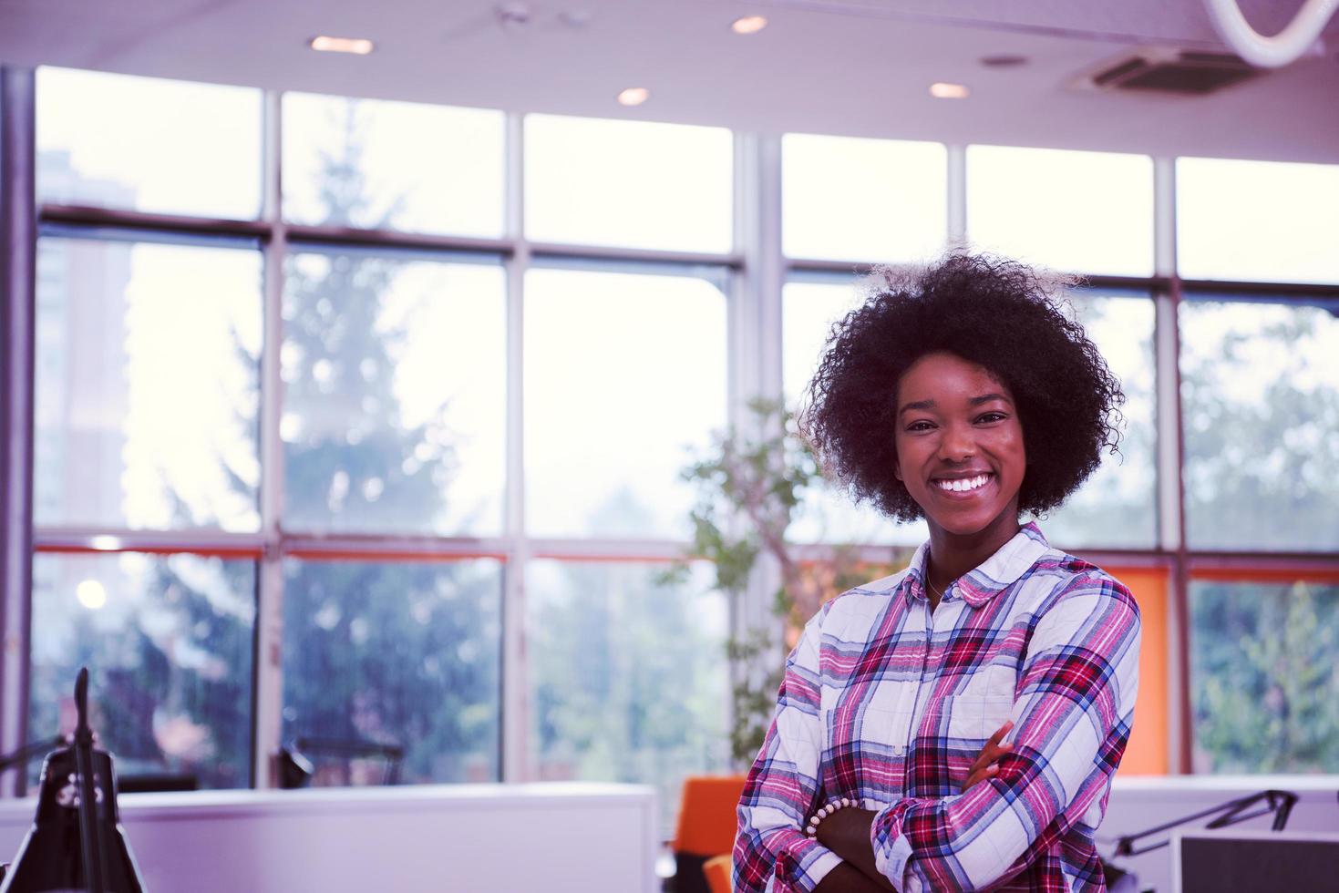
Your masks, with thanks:
<instances>
[{"instance_id":1,"label":"smiling face of the woman with curly hair","mask_svg":"<svg viewBox=\"0 0 1339 893\"><path fill-rule=\"evenodd\" d=\"M1027 454L1014 395L984 367L928 353L897 383L897 479L931 530L1016 529Z\"/></svg>"}]
</instances>

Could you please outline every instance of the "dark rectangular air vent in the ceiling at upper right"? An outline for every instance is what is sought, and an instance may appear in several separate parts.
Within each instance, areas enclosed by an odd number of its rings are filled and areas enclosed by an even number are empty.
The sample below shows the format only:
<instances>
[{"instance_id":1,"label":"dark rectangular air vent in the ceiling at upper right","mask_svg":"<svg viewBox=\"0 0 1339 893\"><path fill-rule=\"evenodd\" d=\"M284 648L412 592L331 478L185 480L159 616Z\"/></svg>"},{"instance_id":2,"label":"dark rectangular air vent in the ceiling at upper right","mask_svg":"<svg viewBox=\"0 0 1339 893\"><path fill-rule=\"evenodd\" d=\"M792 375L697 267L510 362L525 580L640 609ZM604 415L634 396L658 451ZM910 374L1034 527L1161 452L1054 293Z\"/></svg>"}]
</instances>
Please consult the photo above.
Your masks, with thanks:
<instances>
[{"instance_id":1,"label":"dark rectangular air vent in the ceiling at upper right","mask_svg":"<svg viewBox=\"0 0 1339 893\"><path fill-rule=\"evenodd\" d=\"M1142 47L1133 55L1105 62L1081 76L1074 86L1081 90L1109 92L1204 96L1261 74L1260 68L1229 52Z\"/></svg>"}]
</instances>

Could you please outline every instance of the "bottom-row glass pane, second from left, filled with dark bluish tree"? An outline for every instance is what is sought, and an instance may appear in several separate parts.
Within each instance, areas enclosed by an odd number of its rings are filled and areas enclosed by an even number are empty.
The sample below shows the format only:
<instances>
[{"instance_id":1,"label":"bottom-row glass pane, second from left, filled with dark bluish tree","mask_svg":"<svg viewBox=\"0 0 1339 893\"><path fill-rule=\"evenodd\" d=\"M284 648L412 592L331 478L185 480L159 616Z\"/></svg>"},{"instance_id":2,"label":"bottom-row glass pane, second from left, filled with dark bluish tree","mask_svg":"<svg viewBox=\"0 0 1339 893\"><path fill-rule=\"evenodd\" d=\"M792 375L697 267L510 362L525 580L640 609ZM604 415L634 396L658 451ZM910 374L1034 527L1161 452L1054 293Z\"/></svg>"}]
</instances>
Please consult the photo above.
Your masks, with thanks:
<instances>
[{"instance_id":1,"label":"bottom-row glass pane, second from left, filled with dark bluish tree","mask_svg":"<svg viewBox=\"0 0 1339 893\"><path fill-rule=\"evenodd\" d=\"M284 742L315 785L498 781L502 566L284 562ZM297 739L309 739L297 742Z\"/></svg>"}]
</instances>

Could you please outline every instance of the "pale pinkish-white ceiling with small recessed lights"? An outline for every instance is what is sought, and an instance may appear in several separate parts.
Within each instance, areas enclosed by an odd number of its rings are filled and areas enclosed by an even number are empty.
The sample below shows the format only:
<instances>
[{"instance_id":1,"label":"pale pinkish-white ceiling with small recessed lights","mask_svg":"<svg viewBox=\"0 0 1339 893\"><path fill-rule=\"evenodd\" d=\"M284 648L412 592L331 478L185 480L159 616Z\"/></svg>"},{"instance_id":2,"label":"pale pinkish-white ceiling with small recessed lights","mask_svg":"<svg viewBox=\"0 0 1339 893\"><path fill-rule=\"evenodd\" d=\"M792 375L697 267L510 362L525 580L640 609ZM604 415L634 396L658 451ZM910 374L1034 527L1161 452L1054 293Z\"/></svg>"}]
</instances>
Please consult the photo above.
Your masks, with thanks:
<instances>
[{"instance_id":1,"label":"pale pinkish-white ceiling with small recessed lights","mask_svg":"<svg viewBox=\"0 0 1339 893\"><path fill-rule=\"evenodd\" d=\"M0 62L593 116L953 143L1339 162L1324 48L1198 98L1069 84L1131 48L1221 50L1202 0L0 0ZM1243 0L1257 29L1300 0ZM766 15L751 36L730 31ZM317 35L376 42L316 54ZM983 56L1027 64L988 68ZM971 96L933 99L933 82ZM624 108L615 95L647 87Z\"/></svg>"}]
</instances>

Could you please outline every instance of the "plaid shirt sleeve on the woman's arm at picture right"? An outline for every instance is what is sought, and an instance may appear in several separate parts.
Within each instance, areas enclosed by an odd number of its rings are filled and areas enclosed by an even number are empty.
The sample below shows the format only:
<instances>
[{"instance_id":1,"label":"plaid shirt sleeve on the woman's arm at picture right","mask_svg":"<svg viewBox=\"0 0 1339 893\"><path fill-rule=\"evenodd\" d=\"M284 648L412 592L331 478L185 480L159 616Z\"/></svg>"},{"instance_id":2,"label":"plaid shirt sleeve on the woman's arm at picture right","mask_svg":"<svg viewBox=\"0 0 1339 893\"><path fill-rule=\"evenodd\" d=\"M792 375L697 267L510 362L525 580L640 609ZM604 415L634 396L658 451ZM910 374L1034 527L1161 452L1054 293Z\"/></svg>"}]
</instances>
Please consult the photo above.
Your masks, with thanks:
<instances>
[{"instance_id":1,"label":"plaid shirt sleeve on the woman's arm at picture right","mask_svg":"<svg viewBox=\"0 0 1339 893\"><path fill-rule=\"evenodd\" d=\"M1014 703L1012 751L967 793L904 798L874 818L878 870L898 890L980 889L1016 876L1094 806L1129 740L1139 612L1129 590L1077 577L1034 628Z\"/></svg>"}]
</instances>

